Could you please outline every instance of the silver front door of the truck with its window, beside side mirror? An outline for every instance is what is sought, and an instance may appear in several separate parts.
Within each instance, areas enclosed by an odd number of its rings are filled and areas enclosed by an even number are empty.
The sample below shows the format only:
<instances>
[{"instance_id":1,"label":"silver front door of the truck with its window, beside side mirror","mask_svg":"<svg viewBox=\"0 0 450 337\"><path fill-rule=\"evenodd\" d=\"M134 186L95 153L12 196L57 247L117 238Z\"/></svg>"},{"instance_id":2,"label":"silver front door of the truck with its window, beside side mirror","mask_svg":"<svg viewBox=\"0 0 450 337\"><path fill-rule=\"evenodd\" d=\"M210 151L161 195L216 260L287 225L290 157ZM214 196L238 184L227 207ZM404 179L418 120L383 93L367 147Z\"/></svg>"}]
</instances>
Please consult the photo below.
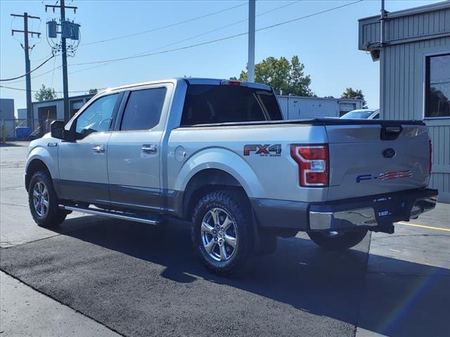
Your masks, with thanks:
<instances>
[{"instance_id":1,"label":"silver front door of the truck with its window, beside side mirror","mask_svg":"<svg viewBox=\"0 0 450 337\"><path fill-rule=\"evenodd\" d=\"M60 199L109 204L106 156L122 95L113 93L94 100L72 121L77 139L60 141L60 179L56 182Z\"/></svg>"}]
</instances>

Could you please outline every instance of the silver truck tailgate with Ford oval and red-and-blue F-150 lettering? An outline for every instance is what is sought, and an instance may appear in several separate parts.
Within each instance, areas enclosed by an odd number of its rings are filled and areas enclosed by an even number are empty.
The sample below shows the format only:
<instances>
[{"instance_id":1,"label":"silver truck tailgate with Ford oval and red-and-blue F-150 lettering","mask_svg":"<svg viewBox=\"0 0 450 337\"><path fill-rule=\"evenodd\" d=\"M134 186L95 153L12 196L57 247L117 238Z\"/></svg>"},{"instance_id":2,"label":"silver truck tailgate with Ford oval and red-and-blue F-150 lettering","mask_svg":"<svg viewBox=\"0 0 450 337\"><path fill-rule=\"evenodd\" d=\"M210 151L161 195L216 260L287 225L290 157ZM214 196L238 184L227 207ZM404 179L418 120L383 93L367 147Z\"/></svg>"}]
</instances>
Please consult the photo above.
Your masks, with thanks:
<instances>
[{"instance_id":1,"label":"silver truck tailgate with Ford oval and red-and-blue F-150 lettering","mask_svg":"<svg viewBox=\"0 0 450 337\"><path fill-rule=\"evenodd\" d=\"M328 200L426 187L430 145L425 125L407 121L326 126Z\"/></svg>"}]
</instances>

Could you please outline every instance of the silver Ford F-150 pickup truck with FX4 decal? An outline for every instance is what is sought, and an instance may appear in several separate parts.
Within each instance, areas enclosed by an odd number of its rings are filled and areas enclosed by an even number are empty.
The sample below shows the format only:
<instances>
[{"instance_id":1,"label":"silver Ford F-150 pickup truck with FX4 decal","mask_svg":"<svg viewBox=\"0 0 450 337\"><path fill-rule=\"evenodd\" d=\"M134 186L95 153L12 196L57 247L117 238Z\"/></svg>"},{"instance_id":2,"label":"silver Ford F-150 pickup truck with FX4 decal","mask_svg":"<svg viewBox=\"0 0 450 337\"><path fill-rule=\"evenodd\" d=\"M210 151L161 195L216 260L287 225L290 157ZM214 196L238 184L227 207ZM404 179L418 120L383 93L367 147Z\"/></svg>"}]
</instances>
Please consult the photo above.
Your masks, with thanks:
<instances>
[{"instance_id":1,"label":"silver Ford F-150 pickup truck with FX4 decal","mask_svg":"<svg viewBox=\"0 0 450 337\"><path fill-rule=\"evenodd\" d=\"M200 260L227 275L304 231L328 250L435 207L422 121L283 121L262 84L171 79L99 93L32 141L25 171L38 225L71 211L192 223Z\"/></svg>"}]
</instances>

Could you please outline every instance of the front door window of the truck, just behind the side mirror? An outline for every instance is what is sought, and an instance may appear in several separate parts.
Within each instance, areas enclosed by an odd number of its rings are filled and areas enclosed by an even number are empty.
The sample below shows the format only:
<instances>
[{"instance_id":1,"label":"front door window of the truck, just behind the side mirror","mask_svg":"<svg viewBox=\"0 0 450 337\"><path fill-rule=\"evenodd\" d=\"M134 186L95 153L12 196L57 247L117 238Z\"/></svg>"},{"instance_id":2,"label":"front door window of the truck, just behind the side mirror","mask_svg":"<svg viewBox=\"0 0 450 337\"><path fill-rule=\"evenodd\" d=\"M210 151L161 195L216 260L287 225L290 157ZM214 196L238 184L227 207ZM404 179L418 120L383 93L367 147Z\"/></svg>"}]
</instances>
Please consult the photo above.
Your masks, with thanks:
<instances>
[{"instance_id":1,"label":"front door window of the truck, just behind the side mirror","mask_svg":"<svg viewBox=\"0 0 450 337\"><path fill-rule=\"evenodd\" d=\"M98 131L108 131L118 93L98 98L77 118L77 133L83 137Z\"/></svg>"}]
</instances>

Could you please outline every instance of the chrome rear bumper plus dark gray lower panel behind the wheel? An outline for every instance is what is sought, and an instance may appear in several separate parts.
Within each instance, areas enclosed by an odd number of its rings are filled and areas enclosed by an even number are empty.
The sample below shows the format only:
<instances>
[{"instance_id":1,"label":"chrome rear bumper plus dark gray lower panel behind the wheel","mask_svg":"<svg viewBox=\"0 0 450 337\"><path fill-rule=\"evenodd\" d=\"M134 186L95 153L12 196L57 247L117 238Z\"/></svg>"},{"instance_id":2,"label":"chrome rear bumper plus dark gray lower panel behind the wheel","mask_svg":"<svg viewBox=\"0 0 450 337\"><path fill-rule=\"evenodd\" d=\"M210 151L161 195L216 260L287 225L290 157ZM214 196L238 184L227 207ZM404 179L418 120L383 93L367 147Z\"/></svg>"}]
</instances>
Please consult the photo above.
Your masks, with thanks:
<instances>
[{"instance_id":1,"label":"chrome rear bumper plus dark gray lower panel behind the wheel","mask_svg":"<svg viewBox=\"0 0 450 337\"><path fill-rule=\"evenodd\" d=\"M256 200L259 225L304 231L362 230L393 232L392 223L417 218L435 208L437 190L408 190L368 197L305 203Z\"/></svg>"}]
</instances>

